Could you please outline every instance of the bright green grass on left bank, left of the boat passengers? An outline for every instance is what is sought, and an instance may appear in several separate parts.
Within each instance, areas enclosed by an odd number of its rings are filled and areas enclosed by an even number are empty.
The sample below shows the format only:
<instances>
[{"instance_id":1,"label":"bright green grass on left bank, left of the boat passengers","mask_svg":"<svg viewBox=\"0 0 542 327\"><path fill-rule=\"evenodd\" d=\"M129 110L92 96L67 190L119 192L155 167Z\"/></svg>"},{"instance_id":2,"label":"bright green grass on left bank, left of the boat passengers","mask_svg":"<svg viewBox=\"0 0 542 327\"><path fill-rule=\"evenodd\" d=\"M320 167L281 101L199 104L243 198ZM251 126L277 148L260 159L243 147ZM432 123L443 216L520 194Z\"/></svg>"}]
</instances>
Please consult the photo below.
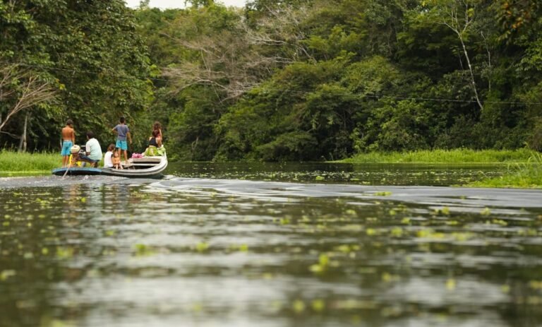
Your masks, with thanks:
<instances>
[{"instance_id":1,"label":"bright green grass on left bank, left of the boat passengers","mask_svg":"<svg viewBox=\"0 0 542 327\"><path fill-rule=\"evenodd\" d=\"M44 172L61 165L59 153L0 151L0 172Z\"/></svg>"}]
</instances>

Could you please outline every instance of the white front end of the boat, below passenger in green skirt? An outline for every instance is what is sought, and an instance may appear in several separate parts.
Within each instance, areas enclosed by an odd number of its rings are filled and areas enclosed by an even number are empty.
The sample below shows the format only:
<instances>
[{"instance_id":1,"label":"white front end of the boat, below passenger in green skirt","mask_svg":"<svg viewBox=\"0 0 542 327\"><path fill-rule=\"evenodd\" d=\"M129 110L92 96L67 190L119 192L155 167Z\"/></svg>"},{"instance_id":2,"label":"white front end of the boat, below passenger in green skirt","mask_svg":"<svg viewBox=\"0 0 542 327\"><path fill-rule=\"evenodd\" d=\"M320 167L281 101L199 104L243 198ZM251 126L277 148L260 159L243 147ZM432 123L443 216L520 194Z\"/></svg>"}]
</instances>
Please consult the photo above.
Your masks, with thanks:
<instances>
[{"instance_id":1,"label":"white front end of the boat, below passenger in green skirt","mask_svg":"<svg viewBox=\"0 0 542 327\"><path fill-rule=\"evenodd\" d=\"M121 177L152 177L163 172L167 167L166 155L155 157L136 157L128 159L124 169L101 167L102 174Z\"/></svg>"}]
</instances>

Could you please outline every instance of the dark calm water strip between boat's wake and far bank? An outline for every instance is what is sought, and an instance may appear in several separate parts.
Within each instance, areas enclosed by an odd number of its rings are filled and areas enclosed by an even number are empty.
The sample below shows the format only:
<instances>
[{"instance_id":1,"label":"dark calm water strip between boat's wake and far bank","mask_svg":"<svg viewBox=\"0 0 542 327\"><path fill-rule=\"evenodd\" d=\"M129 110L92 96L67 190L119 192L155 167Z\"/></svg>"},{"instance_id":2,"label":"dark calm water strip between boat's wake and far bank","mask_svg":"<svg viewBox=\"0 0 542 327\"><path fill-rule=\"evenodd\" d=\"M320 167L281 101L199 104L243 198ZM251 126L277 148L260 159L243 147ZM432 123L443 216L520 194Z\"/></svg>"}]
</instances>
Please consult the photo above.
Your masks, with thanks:
<instances>
[{"instance_id":1,"label":"dark calm water strip between boat's wake and far bank","mask_svg":"<svg viewBox=\"0 0 542 327\"><path fill-rule=\"evenodd\" d=\"M406 165L327 162L173 162L178 177L282 182L349 182L366 185L449 186L496 177L507 165Z\"/></svg>"}]
</instances>

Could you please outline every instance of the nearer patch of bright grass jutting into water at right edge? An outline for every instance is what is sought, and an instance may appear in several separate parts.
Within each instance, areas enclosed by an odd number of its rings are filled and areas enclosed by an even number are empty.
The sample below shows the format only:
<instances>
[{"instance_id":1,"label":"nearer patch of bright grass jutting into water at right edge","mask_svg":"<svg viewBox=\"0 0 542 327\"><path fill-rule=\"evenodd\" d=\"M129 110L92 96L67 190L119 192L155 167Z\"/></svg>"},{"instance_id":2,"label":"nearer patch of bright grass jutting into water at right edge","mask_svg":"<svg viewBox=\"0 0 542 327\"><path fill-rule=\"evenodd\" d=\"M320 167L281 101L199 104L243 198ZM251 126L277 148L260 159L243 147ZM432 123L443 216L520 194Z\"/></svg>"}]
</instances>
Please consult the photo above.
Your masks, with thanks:
<instances>
[{"instance_id":1,"label":"nearer patch of bright grass jutting into water at right edge","mask_svg":"<svg viewBox=\"0 0 542 327\"><path fill-rule=\"evenodd\" d=\"M542 155L534 153L528 162L512 165L503 176L472 182L468 186L542 189Z\"/></svg>"}]
</instances>

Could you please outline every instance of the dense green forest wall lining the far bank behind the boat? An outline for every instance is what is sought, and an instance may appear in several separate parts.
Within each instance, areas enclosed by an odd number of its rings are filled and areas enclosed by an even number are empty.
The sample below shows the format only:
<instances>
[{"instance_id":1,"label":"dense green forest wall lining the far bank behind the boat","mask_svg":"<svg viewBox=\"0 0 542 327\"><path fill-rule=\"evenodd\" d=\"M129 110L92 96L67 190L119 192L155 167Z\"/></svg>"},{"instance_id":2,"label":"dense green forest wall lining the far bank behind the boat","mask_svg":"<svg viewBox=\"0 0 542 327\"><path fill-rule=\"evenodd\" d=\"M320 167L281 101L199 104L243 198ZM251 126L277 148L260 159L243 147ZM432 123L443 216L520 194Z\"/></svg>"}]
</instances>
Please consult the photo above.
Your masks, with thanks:
<instances>
[{"instance_id":1,"label":"dense green forest wall lining the far bank behind the boat","mask_svg":"<svg viewBox=\"0 0 542 327\"><path fill-rule=\"evenodd\" d=\"M161 121L180 160L542 150L536 0L0 0L0 148Z\"/></svg>"}]
</instances>

